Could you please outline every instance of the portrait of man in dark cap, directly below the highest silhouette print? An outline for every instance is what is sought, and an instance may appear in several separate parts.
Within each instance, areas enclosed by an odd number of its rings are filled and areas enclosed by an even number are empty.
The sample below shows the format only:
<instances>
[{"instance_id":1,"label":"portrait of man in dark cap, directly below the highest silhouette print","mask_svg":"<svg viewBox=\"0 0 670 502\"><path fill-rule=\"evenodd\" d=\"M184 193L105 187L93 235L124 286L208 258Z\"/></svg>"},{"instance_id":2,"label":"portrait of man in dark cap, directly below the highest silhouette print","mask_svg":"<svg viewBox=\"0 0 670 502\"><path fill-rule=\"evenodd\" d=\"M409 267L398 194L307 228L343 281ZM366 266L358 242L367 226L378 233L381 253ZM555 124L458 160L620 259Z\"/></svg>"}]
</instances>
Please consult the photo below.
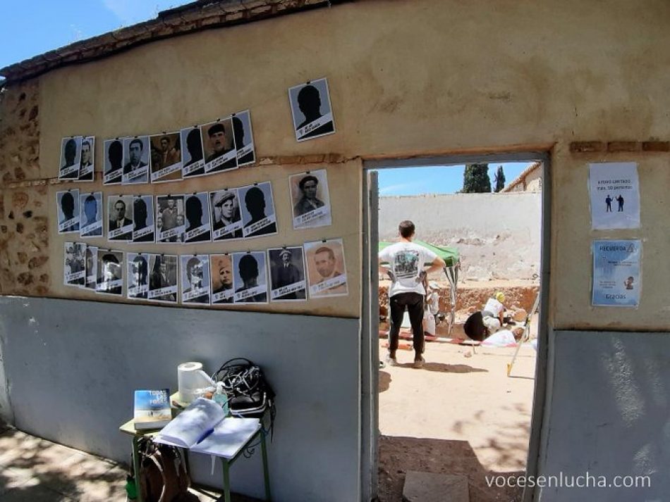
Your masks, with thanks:
<instances>
[{"instance_id":1,"label":"portrait of man in dark cap, directly below the highest silhouette print","mask_svg":"<svg viewBox=\"0 0 670 502\"><path fill-rule=\"evenodd\" d=\"M291 175L288 185L294 229L331 225L330 195L325 169Z\"/></svg>"}]
</instances>

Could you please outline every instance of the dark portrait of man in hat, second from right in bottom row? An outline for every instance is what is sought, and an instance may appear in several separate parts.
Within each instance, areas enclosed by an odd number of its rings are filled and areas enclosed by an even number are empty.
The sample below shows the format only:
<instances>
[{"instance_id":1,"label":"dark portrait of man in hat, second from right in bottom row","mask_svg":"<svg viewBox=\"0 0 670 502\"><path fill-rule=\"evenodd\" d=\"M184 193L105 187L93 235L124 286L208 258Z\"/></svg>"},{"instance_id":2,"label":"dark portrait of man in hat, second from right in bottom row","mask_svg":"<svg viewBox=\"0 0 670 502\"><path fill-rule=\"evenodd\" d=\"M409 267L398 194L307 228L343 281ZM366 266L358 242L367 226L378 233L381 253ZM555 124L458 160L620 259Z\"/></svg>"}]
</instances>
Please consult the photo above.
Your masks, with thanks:
<instances>
[{"instance_id":1,"label":"dark portrait of man in hat, second from right in bottom row","mask_svg":"<svg viewBox=\"0 0 670 502\"><path fill-rule=\"evenodd\" d=\"M270 301L305 301L305 261L303 248L284 247L267 250L270 265Z\"/></svg>"}]
</instances>

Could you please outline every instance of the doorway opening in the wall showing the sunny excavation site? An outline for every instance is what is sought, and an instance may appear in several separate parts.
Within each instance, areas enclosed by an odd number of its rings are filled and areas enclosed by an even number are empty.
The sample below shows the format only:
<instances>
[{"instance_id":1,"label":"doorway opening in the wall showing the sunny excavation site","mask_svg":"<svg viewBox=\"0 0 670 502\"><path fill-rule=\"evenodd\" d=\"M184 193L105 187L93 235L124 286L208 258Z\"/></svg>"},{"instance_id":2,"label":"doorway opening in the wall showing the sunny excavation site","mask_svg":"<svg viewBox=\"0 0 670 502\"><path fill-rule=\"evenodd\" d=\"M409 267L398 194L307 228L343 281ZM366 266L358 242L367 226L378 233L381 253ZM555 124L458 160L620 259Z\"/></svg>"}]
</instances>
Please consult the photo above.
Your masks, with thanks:
<instances>
[{"instance_id":1,"label":"doorway opening in the wall showing the sunny excavation site","mask_svg":"<svg viewBox=\"0 0 670 502\"><path fill-rule=\"evenodd\" d=\"M397 501L413 484L425 489L433 479L464 486L470 501L528 501L530 492L500 487L496 477L537 469L546 371L548 250L542 244L549 235L549 158L515 153L374 161L365 170L364 270L370 271L370 284L363 297L370 345L365 347L364 336L362 353L370 365L370 494L379 502ZM415 368L407 313L397 363L387 359L389 291L396 289L386 267L378 268L377 252L398 241L402 220L414 222L415 239L446 265L424 283L422 368ZM487 322L482 341L468 325L468 336L465 322L482 311L490 321L485 308L496 297L506 308L501 326Z\"/></svg>"}]
</instances>

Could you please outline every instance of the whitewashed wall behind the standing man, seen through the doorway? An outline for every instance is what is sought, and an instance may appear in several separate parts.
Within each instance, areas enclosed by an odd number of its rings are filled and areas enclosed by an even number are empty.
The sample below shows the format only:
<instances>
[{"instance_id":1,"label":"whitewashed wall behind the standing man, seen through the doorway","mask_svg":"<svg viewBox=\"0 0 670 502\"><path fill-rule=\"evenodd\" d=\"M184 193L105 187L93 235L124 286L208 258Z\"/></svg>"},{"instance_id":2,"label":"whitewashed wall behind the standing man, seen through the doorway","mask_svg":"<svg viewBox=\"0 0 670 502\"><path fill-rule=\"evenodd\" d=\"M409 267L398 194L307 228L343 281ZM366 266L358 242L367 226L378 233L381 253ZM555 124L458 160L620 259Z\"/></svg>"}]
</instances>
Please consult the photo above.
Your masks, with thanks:
<instances>
[{"instance_id":1,"label":"whitewashed wall behind the standing man, seen through the doorway","mask_svg":"<svg viewBox=\"0 0 670 502\"><path fill-rule=\"evenodd\" d=\"M540 273L540 194L427 194L379 198L379 239L412 220L417 238L461 253L468 280L532 279Z\"/></svg>"}]
</instances>

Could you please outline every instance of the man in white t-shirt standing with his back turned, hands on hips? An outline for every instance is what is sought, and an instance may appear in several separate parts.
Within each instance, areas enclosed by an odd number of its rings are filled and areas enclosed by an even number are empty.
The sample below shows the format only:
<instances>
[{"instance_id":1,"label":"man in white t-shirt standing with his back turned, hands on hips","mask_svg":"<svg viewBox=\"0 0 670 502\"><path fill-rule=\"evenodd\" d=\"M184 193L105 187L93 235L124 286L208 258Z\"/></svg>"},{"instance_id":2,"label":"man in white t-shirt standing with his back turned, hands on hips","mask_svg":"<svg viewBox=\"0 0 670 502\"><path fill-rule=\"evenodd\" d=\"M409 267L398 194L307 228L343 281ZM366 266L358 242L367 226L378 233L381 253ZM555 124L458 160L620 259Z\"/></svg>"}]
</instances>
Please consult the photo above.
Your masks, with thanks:
<instances>
[{"instance_id":1,"label":"man in white t-shirt standing with his back turned, hands on hips","mask_svg":"<svg viewBox=\"0 0 670 502\"><path fill-rule=\"evenodd\" d=\"M403 322L405 310L408 310L414 344L414 368L421 368L424 358L421 356L425 344L423 334L423 301L426 290L423 280L428 272L440 270L446 264L444 260L423 246L414 244L415 226L405 220L398 225L400 239L396 244L386 247L379 253L379 270L391 277L389 288L389 365L397 365L398 334ZM386 265L382 265L386 263ZM426 269L425 265L430 266Z\"/></svg>"}]
</instances>

